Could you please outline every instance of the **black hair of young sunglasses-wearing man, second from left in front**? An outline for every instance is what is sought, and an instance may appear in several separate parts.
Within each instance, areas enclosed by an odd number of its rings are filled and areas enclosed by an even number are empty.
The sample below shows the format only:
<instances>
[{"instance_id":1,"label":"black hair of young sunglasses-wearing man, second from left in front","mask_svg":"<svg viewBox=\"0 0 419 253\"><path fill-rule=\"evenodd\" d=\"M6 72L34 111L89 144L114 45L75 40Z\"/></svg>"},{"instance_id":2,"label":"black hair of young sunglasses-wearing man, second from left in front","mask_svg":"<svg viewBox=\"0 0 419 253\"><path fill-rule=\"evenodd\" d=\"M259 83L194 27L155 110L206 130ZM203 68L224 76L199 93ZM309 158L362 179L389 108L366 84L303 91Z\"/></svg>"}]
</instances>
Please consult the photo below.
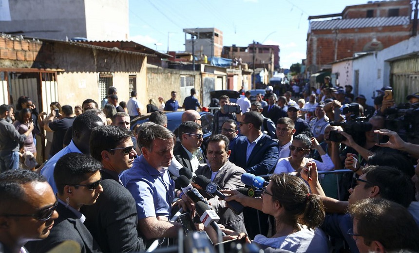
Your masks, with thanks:
<instances>
[{"instance_id":1,"label":"black hair of young sunglasses-wearing man, second from left in front","mask_svg":"<svg viewBox=\"0 0 419 253\"><path fill-rule=\"evenodd\" d=\"M82 153L65 154L58 159L54 169L54 181L57 185L58 194L64 193L64 186L85 181L101 168L102 163L88 155Z\"/></svg>"}]
</instances>

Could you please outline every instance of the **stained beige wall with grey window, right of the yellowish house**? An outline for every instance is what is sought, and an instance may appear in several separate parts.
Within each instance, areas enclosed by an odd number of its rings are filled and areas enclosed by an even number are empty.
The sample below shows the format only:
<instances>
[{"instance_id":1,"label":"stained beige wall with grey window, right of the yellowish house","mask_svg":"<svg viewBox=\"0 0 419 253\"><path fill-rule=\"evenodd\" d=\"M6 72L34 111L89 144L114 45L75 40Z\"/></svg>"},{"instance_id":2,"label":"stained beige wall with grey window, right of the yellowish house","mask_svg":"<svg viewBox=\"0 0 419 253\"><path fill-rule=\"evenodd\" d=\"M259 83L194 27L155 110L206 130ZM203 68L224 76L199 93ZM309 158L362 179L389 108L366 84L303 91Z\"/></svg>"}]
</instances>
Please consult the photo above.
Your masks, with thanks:
<instances>
[{"instance_id":1,"label":"stained beige wall with grey window, right of the yellowish house","mask_svg":"<svg viewBox=\"0 0 419 253\"><path fill-rule=\"evenodd\" d=\"M196 89L195 97L202 103L201 100L201 75L197 71L187 70L173 70L161 68L147 68L147 94L148 99L154 98L158 101L159 96L163 97L165 101L171 98L171 91L177 93L176 99L179 101L179 106L182 106L185 96L181 96L180 77L181 75L193 75ZM139 92L138 92L139 93ZM190 95L190 94L188 94ZM148 104L148 103L147 103Z\"/></svg>"}]
</instances>

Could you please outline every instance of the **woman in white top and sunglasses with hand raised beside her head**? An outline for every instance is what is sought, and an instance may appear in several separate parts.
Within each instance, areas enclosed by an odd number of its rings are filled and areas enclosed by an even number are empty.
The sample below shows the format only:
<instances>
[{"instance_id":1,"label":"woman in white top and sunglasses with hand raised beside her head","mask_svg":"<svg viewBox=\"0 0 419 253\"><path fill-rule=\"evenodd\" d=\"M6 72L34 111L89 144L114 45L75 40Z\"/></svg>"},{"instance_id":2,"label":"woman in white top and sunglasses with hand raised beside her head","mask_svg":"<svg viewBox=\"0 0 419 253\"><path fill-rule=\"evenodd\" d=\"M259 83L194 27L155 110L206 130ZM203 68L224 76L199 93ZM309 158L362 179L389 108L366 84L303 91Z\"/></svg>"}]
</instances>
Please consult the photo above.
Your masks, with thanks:
<instances>
[{"instance_id":1,"label":"woman in white top and sunglasses with hand raised beside her head","mask_svg":"<svg viewBox=\"0 0 419 253\"><path fill-rule=\"evenodd\" d=\"M316 149L322 157L323 163L317 160L306 158L305 156L310 152L310 148ZM291 145L289 146L291 153L290 157L281 158L276 164L274 173L281 172L294 173L299 176L300 171L307 162L314 161L318 170L331 171L335 168L329 155L324 152L322 146L319 145L316 138L310 138L305 133L294 136Z\"/></svg>"}]
</instances>

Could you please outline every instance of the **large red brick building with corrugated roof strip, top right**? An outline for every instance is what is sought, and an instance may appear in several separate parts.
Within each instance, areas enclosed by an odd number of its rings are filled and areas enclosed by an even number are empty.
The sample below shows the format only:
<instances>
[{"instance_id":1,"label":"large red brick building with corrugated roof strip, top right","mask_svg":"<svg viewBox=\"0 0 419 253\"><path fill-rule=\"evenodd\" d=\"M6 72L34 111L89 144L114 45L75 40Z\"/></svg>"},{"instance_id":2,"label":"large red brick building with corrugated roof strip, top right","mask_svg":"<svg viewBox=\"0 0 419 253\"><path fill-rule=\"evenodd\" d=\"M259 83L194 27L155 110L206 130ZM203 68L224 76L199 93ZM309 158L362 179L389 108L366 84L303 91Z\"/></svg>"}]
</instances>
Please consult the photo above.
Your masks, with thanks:
<instances>
[{"instance_id":1,"label":"large red brick building with corrugated roof strip, top right","mask_svg":"<svg viewBox=\"0 0 419 253\"><path fill-rule=\"evenodd\" d=\"M369 1L347 6L339 14L310 16L307 72L330 69L331 62L354 53L381 50L408 39L411 11L410 0Z\"/></svg>"}]
</instances>

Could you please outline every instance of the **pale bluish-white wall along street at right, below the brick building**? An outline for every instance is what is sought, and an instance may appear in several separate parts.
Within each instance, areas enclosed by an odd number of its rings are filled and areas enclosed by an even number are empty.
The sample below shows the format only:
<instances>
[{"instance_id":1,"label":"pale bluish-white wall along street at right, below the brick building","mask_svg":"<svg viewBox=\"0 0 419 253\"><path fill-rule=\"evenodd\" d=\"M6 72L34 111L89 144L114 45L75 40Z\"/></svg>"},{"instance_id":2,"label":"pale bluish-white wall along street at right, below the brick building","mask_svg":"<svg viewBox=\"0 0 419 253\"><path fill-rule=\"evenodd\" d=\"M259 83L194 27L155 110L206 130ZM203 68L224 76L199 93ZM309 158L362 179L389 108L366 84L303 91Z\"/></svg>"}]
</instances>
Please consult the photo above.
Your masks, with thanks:
<instances>
[{"instance_id":1,"label":"pale bluish-white wall along street at right, below the brick building","mask_svg":"<svg viewBox=\"0 0 419 253\"><path fill-rule=\"evenodd\" d=\"M418 54L418 44L419 36L415 36L380 52L354 59L353 71L359 71L359 94L364 94L370 100L374 90L389 86L390 62Z\"/></svg>"}]
</instances>

